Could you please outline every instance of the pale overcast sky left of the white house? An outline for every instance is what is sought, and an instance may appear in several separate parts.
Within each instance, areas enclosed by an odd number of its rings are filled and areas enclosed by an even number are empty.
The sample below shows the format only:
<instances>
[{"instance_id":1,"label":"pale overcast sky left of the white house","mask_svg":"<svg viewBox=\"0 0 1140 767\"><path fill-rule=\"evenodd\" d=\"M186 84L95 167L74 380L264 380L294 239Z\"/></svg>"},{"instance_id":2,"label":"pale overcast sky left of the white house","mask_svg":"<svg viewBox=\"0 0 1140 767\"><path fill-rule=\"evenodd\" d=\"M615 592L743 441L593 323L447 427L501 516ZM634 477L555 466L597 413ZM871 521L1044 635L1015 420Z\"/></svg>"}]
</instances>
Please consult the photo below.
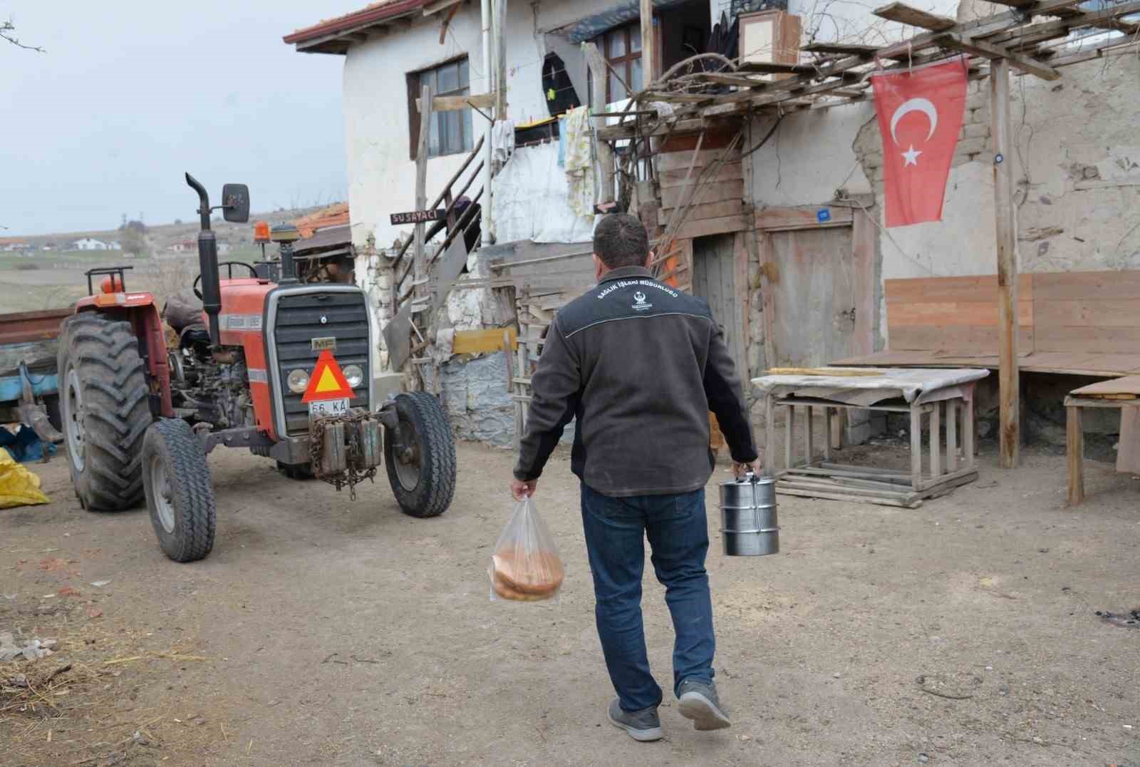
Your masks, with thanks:
<instances>
[{"instance_id":1,"label":"pale overcast sky left of the white house","mask_svg":"<svg viewBox=\"0 0 1140 767\"><path fill-rule=\"evenodd\" d=\"M367 0L0 0L0 236L194 216L250 185L254 211L345 196L344 58L282 35Z\"/></svg>"}]
</instances>

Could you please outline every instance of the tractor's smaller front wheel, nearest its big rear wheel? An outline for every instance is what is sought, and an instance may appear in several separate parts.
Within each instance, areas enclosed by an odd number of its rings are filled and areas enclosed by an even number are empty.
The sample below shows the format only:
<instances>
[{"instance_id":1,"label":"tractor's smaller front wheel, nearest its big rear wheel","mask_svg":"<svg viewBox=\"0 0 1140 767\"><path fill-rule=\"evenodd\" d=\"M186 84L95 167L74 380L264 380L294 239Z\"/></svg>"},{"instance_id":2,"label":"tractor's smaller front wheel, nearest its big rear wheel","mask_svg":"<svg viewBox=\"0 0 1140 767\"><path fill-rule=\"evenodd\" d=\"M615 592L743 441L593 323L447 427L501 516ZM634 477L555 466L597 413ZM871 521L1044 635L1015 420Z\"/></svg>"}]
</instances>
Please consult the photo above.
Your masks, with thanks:
<instances>
[{"instance_id":1,"label":"tractor's smaller front wheel, nearest its big rear wheel","mask_svg":"<svg viewBox=\"0 0 1140 767\"><path fill-rule=\"evenodd\" d=\"M210 554L218 509L206 454L189 423L164 418L147 429L142 486L163 552L174 562Z\"/></svg>"}]
</instances>

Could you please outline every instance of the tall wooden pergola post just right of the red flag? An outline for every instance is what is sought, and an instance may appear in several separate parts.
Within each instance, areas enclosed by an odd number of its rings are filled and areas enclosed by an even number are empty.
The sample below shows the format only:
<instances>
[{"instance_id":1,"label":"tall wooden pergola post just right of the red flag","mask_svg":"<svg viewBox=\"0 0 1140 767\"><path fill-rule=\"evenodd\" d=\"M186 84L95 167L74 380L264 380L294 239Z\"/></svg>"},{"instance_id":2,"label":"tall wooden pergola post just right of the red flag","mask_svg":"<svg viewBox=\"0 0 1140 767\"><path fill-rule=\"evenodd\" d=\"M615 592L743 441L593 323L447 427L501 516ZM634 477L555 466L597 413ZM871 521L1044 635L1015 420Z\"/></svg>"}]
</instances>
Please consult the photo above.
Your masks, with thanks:
<instances>
[{"instance_id":1,"label":"tall wooden pergola post just right of the red flag","mask_svg":"<svg viewBox=\"0 0 1140 767\"><path fill-rule=\"evenodd\" d=\"M994 138L994 218L997 231L997 386L1001 395L999 462L1011 469L1021 450L1017 369L1017 233L1009 138L1009 63L990 62L990 113Z\"/></svg>"}]
</instances>

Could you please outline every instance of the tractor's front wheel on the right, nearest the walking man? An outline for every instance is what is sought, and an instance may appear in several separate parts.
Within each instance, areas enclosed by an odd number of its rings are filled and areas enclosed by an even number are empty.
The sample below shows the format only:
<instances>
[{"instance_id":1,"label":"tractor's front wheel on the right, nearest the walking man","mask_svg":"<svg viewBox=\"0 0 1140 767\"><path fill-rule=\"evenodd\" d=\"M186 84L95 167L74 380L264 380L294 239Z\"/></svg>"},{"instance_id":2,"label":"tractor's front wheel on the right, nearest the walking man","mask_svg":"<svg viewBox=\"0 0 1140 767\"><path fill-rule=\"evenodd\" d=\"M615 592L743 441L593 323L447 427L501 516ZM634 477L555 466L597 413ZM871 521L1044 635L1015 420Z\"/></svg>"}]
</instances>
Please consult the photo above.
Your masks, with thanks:
<instances>
[{"instance_id":1,"label":"tractor's front wheel on the right, nearest the walking man","mask_svg":"<svg viewBox=\"0 0 1140 767\"><path fill-rule=\"evenodd\" d=\"M438 517L455 495L455 439L447 414L423 391L397 395L396 413L409 453L397 455L392 435L384 435L388 482L405 514Z\"/></svg>"}]
</instances>

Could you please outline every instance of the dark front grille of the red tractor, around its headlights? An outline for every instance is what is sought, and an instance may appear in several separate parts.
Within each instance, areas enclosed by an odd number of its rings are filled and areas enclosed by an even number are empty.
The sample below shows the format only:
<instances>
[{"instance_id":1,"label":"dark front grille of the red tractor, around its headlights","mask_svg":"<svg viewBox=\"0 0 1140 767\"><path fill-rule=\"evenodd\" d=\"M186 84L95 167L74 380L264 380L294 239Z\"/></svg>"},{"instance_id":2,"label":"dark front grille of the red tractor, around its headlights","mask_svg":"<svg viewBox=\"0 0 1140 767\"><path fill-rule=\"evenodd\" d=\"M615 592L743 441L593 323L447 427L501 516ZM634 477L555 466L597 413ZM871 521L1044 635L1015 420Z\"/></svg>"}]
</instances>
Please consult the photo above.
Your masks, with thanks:
<instances>
[{"instance_id":1,"label":"dark front grille of the red tractor, around its headlights","mask_svg":"<svg viewBox=\"0 0 1140 767\"><path fill-rule=\"evenodd\" d=\"M360 366L365 384L356 389L349 406L368 406L372 368L368 364L368 308L364 293L315 289L311 293L282 296L272 333L270 342L277 347L277 390L285 406L287 435L309 431L309 406L301 402L302 395L288 390L285 381L290 372L298 368L312 373L320 355L320 352L312 350L314 338L336 339L333 357L342 369L353 364Z\"/></svg>"}]
</instances>

